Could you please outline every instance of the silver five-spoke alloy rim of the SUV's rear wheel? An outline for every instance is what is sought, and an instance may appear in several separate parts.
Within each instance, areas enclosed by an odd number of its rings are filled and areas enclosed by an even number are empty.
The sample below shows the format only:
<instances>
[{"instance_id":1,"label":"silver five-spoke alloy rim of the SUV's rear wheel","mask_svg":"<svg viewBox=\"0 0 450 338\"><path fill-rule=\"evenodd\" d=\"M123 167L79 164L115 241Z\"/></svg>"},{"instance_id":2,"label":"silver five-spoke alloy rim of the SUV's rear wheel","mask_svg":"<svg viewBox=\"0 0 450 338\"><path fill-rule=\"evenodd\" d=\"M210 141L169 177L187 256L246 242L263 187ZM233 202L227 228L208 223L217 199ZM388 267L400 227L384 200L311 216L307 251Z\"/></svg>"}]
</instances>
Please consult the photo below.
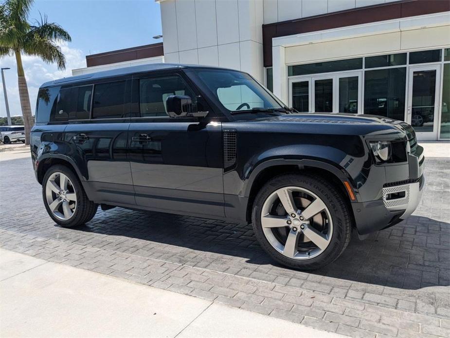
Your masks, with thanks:
<instances>
[{"instance_id":1,"label":"silver five-spoke alloy rim of the SUV's rear wheel","mask_svg":"<svg viewBox=\"0 0 450 338\"><path fill-rule=\"evenodd\" d=\"M69 177L62 172L50 175L45 186L47 205L53 215L68 221L76 209L76 192Z\"/></svg>"}]
</instances>

